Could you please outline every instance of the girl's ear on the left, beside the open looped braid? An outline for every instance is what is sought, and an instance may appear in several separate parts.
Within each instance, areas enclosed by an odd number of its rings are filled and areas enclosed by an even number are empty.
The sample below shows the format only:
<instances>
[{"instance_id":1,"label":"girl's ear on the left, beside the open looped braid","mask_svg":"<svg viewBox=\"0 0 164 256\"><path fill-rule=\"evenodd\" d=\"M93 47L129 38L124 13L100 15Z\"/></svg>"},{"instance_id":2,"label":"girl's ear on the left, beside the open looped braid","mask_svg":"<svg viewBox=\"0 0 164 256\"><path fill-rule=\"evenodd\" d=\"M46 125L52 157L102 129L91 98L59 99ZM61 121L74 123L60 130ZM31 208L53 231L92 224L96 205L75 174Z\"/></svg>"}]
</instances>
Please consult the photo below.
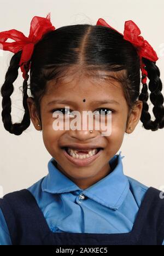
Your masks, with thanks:
<instances>
[{"instance_id":1,"label":"girl's ear on the left, beside the open looped braid","mask_svg":"<svg viewBox=\"0 0 164 256\"><path fill-rule=\"evenodd\" d=\"M41 124L40 124L40 120L38 118L36 104L34 103L34 100L32 97L27 98L27 105L28 105L28 110L30 112L30 118L32 120L32 123L33 123L34 127L36 128L36 130L40 131ZM40 126L38 126L38 124L40 124Z\"/></svg>"}]
</instances>

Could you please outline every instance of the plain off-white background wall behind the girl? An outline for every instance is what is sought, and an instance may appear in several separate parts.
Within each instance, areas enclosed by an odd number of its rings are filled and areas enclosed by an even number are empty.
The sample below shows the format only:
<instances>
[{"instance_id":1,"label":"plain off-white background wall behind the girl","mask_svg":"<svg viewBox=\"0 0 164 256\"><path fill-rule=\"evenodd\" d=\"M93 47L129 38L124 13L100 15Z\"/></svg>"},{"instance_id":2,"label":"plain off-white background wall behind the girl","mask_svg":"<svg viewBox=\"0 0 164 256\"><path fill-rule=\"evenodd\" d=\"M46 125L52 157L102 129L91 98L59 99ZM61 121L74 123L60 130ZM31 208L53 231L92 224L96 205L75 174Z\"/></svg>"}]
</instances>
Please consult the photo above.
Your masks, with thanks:
<instances>
[{"instance_id":1,"label":"plain off-white background wall behind the girl","mask_svg":"<svg viewBox=\"0 0 164 256\"><path fill-rule=\"evenodd\" d=\"M43 16L51 12L51 22L56 28L74 24L96 25L103 18L119 32L124 32L126 20L133 20L141 30L145 40L156 50L159 60L156 65L164 80L164 2L162 0L60 0L60 1L0 1L0 32L16 29L28 36L33 16ZM8 40L8 42L10 42ZM0 87L13 53L0 52ZM13 123L20 122L24 114L22 108L23 78L14 82L12 100ZM162 91L163 92L163 91ZM150 93L150 91L149 91ZM0 96L2 102L2 96ZM2 111L0 102L0 111ZM150 104L150 112L152 104ZM152 112L151 112L152 113ZM154 118L153 114L152 117ZM31 126L20 136L11 135L4 129L0 118L0 186L4 194L28 188L48 173L51 155L46 151L42 132ZM164 185L164 129L148 131L139 121L131 135L125 134L120 148L124 173L145 185L160 188ZM120 151L119 150L119 151ZM1 188L2 191L2 188Z\"/></svg>"}]
</instances>

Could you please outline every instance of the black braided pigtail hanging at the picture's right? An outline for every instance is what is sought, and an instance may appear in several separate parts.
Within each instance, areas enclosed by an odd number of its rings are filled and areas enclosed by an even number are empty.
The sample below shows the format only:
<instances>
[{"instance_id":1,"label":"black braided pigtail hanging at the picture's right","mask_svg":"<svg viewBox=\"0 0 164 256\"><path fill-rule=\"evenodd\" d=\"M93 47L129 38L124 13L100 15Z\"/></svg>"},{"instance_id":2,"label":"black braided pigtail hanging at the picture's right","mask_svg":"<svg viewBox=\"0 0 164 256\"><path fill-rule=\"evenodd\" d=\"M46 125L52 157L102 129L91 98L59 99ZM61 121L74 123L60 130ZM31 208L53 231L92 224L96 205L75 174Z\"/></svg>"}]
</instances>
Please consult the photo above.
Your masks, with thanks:
<instances>
[{"instance_id":1,"label":"black braided pigtail hanging at the picture's right","mask_svg":"<svg viewBox=\"0 0 164 256\"><path fill-rule=\"evenodd\" d=\"M160 70L155 65L155 62L149 61L143 58L142 65L142 84L143 88L139 95L139 100L143 101L143 109L140 120L143 123L143 126L147 130L156 131L164 127L164 107L163 107L163 95L162 91L162 82L160 79ZM149 90L150 101L153 103L153 114L155 120L151 120L151 115L149 113L149 105L147 103L149 94L148 94L148 85L147 85L147 76L149 78Z\"/></svg>"}]
</instances>

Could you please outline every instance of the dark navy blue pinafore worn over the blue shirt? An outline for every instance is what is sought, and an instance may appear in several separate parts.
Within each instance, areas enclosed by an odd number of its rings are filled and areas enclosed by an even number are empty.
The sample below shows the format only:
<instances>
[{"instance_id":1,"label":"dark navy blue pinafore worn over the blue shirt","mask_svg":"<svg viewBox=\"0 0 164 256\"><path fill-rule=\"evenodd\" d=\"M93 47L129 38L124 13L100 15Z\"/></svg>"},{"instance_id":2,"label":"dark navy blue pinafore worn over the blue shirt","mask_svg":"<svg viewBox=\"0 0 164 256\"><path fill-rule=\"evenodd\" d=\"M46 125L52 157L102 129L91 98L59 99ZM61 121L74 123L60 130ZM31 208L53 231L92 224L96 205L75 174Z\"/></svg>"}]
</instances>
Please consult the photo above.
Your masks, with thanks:
<instances>
[{"instance_id":1,"label":"dark navy blue pinafore worn over the blue shirt","mask_svg":"<svg viewBox=\"0 0 164 256\"><path fill-rule=\"evenodd\" d=\"M152 187L145 193L131 232L123 234L54 233L27 189L5 195L0 207L13 245L162 245L164 239L164 199Z\"/></svg>"}]
</instances>

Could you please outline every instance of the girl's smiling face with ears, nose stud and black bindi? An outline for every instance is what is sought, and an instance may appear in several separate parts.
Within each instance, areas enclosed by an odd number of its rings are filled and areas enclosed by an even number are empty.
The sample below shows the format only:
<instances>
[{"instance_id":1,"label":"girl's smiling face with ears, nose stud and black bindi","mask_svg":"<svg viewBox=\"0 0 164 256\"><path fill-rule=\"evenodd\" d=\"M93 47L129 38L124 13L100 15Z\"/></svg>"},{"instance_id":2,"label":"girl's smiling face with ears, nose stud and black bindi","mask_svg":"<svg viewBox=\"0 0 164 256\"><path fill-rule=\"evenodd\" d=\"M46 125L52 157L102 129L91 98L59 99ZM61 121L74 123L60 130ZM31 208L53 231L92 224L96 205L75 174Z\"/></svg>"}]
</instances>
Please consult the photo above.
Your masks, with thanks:
<instances>
[{"instance_id":1,"label":"girl's smiling face with ears, nose stud and black bindi","mask_svg":"<svg viewBox=\"0 0 164 256\"><path fill-rule=\"evenodd\" d=\"M104 73L104 72L103 72ZM111 80L111 83L99 78L85 77L85 75L70 75L58 82L52 81L47 84L46 94L40 102L40 115L42 118L43 141L50 155L55 158L57 168L81 189L86 189L100 179L107 176L110 171L109 160L118 152L121 147L124 133L131 133L136 127L142 112L142 102L138 102L136 108L128 112L127 102L119 82ZM85 99L85 102L83 101ZM58 103L56 102L58 101ZM62 103L60 103L62 101ZM69 102L68 102L69 101ZM97 101L103 101L98 103ZM104 103L104 102L109 103ZM115 101L115 102L110 102ZM31 120L37 130L39 119L36 108L31 97L27 99L28 109L30 110ZM101 130L54 130L52 117L54 110L68 108L67 115L73 110L80 112L81 118L83 111L97 112L102 114L104 109L107 113L112 111L112 131L109 136L101 136ZM103 109L102 109L103 108ZM102 109L102 110L101 110ZM99 110L99 111L98 111ZM127 118L129 114L129 121ZM66 116L65 116L66 117ZM68 117L67 117L68 118ZM104 115L103 115L104 118ZM104 118L106 119L106 118ZM69 119L71 122L72 118ZM82 119L81 119L82 120ZM81 127L82 126L81 121ZM88 122L87 122L88 127ZM129 129L132 128L132 130ZM81 146L95 145L101 147L99 156L90 164L79 166L67 158L63 146L72 146L80 144ZM87 148L87 147L86 147ZM73 158L73 156L71 156Z\"/></svg>"}]
</instances>

